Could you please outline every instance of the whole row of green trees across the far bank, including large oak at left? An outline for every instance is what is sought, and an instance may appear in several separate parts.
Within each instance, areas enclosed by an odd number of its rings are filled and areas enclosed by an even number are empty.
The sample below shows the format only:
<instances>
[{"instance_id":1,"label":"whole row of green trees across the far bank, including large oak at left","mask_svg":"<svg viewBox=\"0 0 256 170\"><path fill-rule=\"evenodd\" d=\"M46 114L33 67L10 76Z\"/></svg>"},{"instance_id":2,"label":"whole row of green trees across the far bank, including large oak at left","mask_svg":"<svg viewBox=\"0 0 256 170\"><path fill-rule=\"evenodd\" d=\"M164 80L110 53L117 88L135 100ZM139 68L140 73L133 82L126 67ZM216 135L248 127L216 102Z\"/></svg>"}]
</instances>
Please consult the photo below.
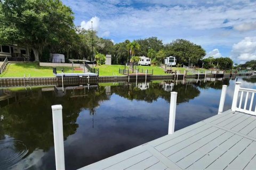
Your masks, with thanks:
<instances>
[{"instance_id":1,"label":"whole row of green trees across the far bank, including large oak at left","mask_svg":"<svg viewBox=\"0 0 256 170\"><path fill-rule=\"evenodd\" d=\"M25 46L35 61L49 61L50 53L60 53L66 59L85 58L99 64L105 63L106 54L111 54L113 64L138 62L135 56L143 55L151 58L152 65L164 63L167 56L175 56L178 66L214 64L203 60L206 53L200 45L185 39L163 44L157 37L149 37L114 44L93 29L76 27L71 8L58 0L0 0L0 21L0 44ZM223 61L228 60L220 58L217 65L222 67Z\"/></svg>"}]
</instances>

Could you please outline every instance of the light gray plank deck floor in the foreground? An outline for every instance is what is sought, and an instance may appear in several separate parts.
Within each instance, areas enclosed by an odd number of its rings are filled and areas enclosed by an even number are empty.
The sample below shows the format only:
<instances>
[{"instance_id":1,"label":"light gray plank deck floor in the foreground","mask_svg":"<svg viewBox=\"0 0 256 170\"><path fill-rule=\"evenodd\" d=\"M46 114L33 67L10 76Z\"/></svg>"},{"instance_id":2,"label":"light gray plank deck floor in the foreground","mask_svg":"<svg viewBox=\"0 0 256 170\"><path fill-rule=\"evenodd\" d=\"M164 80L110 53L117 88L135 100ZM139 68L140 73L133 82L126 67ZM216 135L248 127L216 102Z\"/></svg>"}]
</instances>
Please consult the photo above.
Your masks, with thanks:
<instances>
[{"instance_id":1,"label":"light gray plank deck floor in the foreground","mask_svg":"<svg viewBox=\"0 0 256 170\"><path fill-rule=\"evenodd\" d=\"M226 111L85 169L255 169L256 116Z\"/></svg>"}]
</instances>

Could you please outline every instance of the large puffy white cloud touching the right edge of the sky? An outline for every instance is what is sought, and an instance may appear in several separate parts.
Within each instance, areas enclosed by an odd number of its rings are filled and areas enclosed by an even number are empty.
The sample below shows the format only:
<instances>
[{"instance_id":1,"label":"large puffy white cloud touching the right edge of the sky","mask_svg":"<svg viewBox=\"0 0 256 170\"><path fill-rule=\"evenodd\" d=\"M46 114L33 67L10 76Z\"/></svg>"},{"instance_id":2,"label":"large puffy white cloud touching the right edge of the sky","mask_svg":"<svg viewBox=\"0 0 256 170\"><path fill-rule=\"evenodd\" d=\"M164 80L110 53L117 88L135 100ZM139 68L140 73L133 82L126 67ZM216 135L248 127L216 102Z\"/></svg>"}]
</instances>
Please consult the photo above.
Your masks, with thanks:
<instances>
[{"instance_id":1,"label":"large puffy white cloud touching the right edge of the sky","mask_svg":"<svg viewBox=\"0 0 256 170\"><path fill-rule=\"evenodd\" d=\"M231 57L239 63L256 60L256 37L245 37L239 43L234 44Z\"/></svg>"}]
</instances>

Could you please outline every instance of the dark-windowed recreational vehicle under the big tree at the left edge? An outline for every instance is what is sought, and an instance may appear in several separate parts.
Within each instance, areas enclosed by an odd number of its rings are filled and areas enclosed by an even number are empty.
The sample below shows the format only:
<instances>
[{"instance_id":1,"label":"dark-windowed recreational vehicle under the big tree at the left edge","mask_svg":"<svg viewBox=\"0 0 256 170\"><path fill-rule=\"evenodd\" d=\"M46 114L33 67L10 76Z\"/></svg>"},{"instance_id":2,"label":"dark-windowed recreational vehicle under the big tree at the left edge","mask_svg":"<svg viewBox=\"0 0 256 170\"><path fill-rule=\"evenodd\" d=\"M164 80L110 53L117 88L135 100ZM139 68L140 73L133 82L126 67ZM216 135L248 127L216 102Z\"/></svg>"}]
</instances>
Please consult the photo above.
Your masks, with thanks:
<instances>
[{"instance_id":1,"label":"dark-windowed recreational vehicle under the big tree at the left edge","mask_svg":"<svg viewBox=\"0 0 256 170\"><path fill-rule=\"evenodd\" d=\"M0 45L0 58L27 56L29 56L29 53L25 47L16 45Z\"/></svg>"}]
</instances>

